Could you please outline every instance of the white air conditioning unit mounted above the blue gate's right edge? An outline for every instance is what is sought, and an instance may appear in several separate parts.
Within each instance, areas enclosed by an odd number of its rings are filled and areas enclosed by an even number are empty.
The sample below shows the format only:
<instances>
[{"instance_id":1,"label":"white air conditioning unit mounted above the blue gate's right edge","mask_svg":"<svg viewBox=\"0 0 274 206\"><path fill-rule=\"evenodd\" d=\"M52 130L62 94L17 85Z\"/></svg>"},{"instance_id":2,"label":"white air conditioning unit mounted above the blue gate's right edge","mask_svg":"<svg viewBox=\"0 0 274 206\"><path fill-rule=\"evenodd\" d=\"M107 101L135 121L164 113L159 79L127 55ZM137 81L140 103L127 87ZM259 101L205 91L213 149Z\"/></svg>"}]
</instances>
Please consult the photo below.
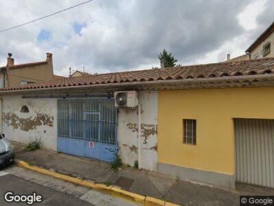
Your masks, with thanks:
<instances>
[{"instance_id":1,"label":"white air conditioning unit mounted above the blue gate's right edge","mask_svg":"<svg viewBox=\"0 0 274 206\"><path fill-rule=\"evenodd\" d=\"M136 107L138 98L136 91L116 91L114 92L115 106L117 107Z\"/></svg>"}]
</instances>

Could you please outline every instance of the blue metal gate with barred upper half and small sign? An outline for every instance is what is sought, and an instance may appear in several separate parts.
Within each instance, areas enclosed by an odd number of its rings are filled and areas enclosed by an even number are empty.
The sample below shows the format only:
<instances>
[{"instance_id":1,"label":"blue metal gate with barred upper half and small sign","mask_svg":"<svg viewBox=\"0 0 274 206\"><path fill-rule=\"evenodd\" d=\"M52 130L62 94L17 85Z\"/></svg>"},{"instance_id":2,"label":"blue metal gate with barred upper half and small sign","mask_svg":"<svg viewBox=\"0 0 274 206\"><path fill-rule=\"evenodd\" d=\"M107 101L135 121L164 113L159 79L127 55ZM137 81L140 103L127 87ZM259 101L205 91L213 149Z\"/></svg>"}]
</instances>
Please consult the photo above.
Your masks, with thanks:
<instances>
[{"instance_id":1,"label":"blue metal gate with barred upper half and small sign","mask_svg":"<svg viewBox=\"0 0 274 206\"><path fill-rule=\"evenodd\" d=\"M58 100L58 152L112 161L116 126L113 99Z\"/></svg>"}]
</instances>

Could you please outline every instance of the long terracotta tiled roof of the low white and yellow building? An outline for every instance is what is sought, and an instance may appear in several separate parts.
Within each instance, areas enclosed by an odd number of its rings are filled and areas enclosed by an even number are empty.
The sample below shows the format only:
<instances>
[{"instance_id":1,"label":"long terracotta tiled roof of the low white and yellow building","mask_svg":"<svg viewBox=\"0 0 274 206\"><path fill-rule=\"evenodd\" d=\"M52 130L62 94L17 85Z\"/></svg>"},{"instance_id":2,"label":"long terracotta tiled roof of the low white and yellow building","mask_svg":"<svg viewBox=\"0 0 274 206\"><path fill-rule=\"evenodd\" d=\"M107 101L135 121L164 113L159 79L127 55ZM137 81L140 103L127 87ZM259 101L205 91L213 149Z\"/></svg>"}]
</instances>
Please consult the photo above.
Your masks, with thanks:
<instances>
[{"instance_id":1,"label":"long terracotta tiled roof of the low white and yellow building","mask_svg":"<svg viewBox=\"0 0 274 206\"><path fill-rule=\"evenodd\" d=\"M242 60L238 62L219 62L207 65L171 67L165 69L147 69L101 73L78 78L60 78L51 82L38 82L21 87L3 88L0 91L19 89L41 89L49 87L73 87L91 84L111 84L123 82L149 82L161 80L184 80L196 78L220 78L223 76L256 76L274 73L274 58Z\"/></svg>"}]
</instances>

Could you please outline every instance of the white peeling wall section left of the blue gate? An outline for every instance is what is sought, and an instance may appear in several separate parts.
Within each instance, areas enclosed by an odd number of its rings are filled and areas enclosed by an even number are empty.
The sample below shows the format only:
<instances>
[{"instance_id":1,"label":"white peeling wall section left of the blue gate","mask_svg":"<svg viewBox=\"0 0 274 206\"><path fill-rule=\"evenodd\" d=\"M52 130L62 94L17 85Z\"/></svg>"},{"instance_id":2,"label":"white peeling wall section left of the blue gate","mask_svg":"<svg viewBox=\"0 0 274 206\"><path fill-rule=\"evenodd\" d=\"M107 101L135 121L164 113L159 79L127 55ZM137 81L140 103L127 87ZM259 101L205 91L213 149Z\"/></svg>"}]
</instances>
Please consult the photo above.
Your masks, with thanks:
<instances>
[{"instance_id":1,"label":"white peeling wall section left of the blue gate","mask_svg":"<svg viewBox=\"0 0 274 206\"><path fill-rule=\"evenodd\" d=\"M29 113L21 113L22 106ZM21 95L2 97L2 133L12 141L27 144L42 140L42 146L57 150L57 100L22 99Z\"/></svg>"}]
</instances>

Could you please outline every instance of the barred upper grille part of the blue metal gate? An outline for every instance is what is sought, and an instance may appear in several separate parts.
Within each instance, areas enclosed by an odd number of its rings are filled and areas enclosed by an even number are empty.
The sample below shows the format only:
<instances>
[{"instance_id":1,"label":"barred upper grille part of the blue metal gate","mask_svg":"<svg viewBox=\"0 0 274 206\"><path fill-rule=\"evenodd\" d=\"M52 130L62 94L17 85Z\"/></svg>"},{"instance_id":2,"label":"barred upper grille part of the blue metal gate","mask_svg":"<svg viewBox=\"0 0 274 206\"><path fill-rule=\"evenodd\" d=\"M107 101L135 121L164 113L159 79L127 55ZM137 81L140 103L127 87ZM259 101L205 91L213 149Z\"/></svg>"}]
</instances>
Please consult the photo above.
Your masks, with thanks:
<instances>
[{"instance_id":1,"label":"barred upper grille part of the blue metal gate","mask_svg":"<svg viewBox=\"0 0 274 206\"><path fill-rule=\"evenodd\" d=\"M58 100L58 137L116 144L112 99Z\"/></svg>"}]
</instances>

